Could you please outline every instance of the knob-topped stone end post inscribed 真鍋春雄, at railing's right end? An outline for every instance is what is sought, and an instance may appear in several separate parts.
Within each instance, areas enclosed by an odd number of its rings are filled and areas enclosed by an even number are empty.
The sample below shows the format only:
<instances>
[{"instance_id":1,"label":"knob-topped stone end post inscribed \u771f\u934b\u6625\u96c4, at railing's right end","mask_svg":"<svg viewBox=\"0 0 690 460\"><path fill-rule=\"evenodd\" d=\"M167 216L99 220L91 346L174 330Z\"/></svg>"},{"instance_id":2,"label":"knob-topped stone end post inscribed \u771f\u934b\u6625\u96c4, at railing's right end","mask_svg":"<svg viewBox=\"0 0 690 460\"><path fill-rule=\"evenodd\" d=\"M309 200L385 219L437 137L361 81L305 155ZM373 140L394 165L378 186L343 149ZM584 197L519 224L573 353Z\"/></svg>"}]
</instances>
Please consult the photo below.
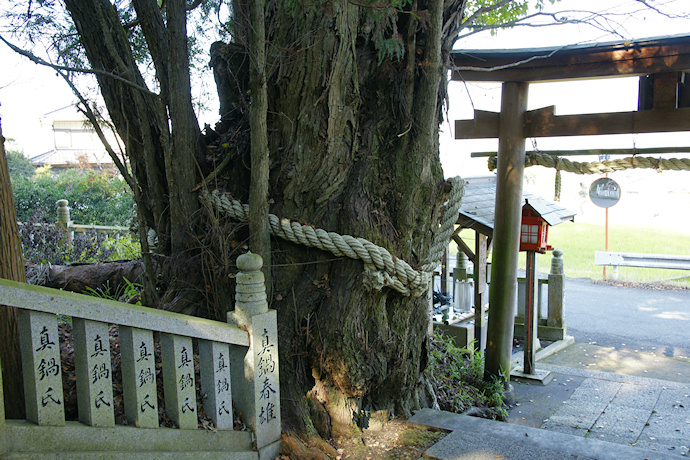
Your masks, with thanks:
<instances>
[{"instance_id":1,"label":"knob-topped stone end post inscribed \u771f\u934b\u6625\u96c4, at railing's right end","mask_svg":"<svg viewBox=\"0 0 690 460\"><path fill-rule=\"evenodd\" d=\"M232 394L244 422L256 435L261 459L280 453L280 378L278 325L275 310L268 309L266 286L257 254L237 258L235 310L228 322L249 333L249 349L231 346Z\"/></svg>"}]
</instances>

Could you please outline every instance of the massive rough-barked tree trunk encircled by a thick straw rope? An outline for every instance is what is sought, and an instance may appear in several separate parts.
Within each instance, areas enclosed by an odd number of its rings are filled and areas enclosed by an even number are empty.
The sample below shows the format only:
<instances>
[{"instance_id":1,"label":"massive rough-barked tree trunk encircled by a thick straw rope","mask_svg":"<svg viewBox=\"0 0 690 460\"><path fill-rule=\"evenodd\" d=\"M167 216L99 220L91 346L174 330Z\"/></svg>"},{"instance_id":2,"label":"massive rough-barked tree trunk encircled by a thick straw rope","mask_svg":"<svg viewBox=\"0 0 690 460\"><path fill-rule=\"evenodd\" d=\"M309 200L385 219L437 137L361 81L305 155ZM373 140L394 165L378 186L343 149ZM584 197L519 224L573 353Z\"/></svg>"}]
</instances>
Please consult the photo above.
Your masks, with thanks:
<instances>
[{"instance_id":1,"label":"massive rough-barked tree trunk encircled by a thick straw rope","mask_svg":"<svg viewBox=\"0 0 690 460\"><path fill-rule=\"evenodd\" d=\"M271 212L366 238L413 266L425 262L443 199L442 51L457 30L442 32L442 6L414 2L377 20L352 2L306 12L269 4ZM377 50L387 37L401 59ZM211 57L222 108L238 97L228 91L234 55L236 45L215 45ZM247 202L242 184L225 186ZM337 427L428 404L426 298L369 290L360 261L276 243L285 419L300 427L323 405Z\"/></svg>"}]
</instances>

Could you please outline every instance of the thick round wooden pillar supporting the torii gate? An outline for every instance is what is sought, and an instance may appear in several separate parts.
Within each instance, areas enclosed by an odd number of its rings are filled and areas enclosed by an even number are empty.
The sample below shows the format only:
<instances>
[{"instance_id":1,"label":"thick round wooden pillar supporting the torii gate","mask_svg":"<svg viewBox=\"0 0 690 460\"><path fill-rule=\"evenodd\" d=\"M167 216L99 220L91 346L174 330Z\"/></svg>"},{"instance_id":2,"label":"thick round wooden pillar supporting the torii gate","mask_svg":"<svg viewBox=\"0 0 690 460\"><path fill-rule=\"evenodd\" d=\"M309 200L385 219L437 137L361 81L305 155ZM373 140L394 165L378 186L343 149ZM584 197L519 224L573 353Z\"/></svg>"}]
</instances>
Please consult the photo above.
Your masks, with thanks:
<instances>
[{"instance_id":1,"label":"thick round wooden pillar supporting the torii gate","mask_svg":"<svg viewBox=\"0 0 690 460\"><path fill-rule=\"evenodd\" d=\"M484 378L510 378L513 306L517 299L518 247L525 172L524 116L529 85L503 83L499 121L496 220Z\"/></svg>"}]
</instances>

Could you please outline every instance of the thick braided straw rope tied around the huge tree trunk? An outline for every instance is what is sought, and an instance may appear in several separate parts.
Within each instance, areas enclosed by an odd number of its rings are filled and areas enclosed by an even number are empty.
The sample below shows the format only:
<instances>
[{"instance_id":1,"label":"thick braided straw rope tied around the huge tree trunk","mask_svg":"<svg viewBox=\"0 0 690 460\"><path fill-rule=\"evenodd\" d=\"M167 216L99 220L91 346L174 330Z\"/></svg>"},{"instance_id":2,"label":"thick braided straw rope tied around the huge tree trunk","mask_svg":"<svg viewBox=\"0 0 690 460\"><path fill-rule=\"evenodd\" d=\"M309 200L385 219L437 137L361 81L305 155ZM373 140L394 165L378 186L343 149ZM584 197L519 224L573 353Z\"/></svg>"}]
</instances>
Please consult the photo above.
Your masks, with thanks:
<instances>
[{"instance_id":1,"label":"thick braided straw rope tied around the huge tree trunk","mask_svg":"<svg viewBox=\"0 0 690 460\"><path fill-rule=\"evenodd\" d=\"M281 219L274 214L268 215L269 227L272 235L292 243L329 251L337 257L347 256L363 261L364 282L371 289L380 290L384 286L389 286L403 295L418 297L428 289L431 273L448 244L465 193L465 181L459 177L451 178L449 181L450 198L446 203L440 227L434 236L429 256L421 270L415 270L404 260L391 255L385 248L364 238L327 232L286 218ZM247 222L249 205L240 203L229 194L214 190L212 193L203 192L201 197L231 218Z\"/></svg>"}]
</instances>

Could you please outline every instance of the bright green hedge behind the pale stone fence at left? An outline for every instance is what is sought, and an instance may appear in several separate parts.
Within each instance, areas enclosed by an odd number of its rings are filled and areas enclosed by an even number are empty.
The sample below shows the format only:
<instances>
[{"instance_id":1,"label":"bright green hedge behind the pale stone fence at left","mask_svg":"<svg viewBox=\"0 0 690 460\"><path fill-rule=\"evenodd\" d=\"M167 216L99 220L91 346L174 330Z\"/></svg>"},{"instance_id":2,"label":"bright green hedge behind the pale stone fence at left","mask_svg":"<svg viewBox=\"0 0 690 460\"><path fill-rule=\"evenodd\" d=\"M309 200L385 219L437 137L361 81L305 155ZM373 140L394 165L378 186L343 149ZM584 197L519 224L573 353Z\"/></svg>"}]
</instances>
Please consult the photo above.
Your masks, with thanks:
<instances>
[{"instance_id":1,"label":"bright green hedge behind the pale stone fence at left","mask_svg":"<svg viewBox=\"0 0 690 460\"><path fill-rule=\"evenodd\" d=\"M132 217L131 191L109 172L70 169L53 174L40 168L33 176L13 180L12 189L20 222L37 214L54 222L55 203L61 199L69 201L70 218L79 224L126 226Z\"/></svg>"}]
</instances>

